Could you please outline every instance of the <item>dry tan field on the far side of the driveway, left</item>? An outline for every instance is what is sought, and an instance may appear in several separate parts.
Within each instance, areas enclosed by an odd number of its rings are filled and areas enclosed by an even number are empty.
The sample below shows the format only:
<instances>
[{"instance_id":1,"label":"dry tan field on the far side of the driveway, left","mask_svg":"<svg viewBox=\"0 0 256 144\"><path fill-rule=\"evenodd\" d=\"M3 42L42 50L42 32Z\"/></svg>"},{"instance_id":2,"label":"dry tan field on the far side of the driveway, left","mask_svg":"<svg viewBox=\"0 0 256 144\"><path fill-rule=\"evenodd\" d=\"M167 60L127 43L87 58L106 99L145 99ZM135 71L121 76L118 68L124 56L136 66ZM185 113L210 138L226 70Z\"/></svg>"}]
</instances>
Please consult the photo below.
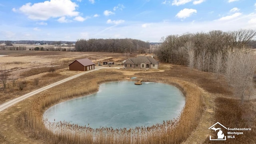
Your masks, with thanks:
<instances>
[{"instance_id":1,"label":"dry tan field on the far side of the driveway, left","mask_svg":"<svg viewBox=\"0 0 256 144\"><path fill-rule=\"evenodd\" d=\"M1 90L0 103L79 74L80 72L68 70L68 64L76 59L89 58L96 64L98 62L102 64L103 61L113 61L118 64L126 60L126 56L121 53L0 51L0 55L4 55L0 57L0 71L8 72L7 88L5 91ZM35 84L36 79L38 84ZM22 90L20 85L24 85ZM2 83L0 83L0 89L2 89Z\"/></svg>"}]
</instances>

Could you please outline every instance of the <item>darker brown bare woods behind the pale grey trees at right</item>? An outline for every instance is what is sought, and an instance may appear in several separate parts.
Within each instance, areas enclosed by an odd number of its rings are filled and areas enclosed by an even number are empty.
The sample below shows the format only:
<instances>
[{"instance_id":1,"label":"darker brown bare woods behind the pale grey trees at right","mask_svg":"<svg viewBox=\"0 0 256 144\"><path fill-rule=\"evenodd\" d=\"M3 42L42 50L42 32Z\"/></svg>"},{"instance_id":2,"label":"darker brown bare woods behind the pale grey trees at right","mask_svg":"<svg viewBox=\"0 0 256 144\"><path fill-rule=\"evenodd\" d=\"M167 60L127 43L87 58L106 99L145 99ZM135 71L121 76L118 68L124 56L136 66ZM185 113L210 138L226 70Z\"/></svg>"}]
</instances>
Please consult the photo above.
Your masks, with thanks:
<instances>
[{"instance_id":1,"label":"darker brown bare woods behind the pale grey trees at right","mask_svg":"<svg viewBox=\"0 0 256 144\"><path fill-rule=\"evenodd\" d=\"M256 31L251 29L168 35L166 38L162 37L162 45L156 55L161 62L189 65L213 72L219 55L224 58L228 50L249 47L248 43L255 36Z\"/></svg>"}]
</instances>

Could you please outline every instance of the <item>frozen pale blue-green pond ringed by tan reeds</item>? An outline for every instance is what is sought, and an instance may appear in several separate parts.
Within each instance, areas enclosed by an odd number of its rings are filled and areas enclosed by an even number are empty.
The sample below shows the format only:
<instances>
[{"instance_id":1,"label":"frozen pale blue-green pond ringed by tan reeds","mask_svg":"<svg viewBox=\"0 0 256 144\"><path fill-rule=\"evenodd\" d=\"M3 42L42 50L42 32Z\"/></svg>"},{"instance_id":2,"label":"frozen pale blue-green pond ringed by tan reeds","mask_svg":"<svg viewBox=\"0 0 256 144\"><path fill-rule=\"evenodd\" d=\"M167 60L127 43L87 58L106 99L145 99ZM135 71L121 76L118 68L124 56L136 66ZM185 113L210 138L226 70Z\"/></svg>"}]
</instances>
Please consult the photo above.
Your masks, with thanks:
<instances>
[{"instance_id":1,"label":"frozen pale blue-green pond ringed by tan reeds","mask_svg":"<svg viewBox=\"0 0 256 144\"><path fill-rule=\"evenodd\" d=\"M178 117L184 105L182 92L168 84L110 82L101 84L97 93L50 107L44 119L92 128L150 126Z\"/></svg>"}]
</instances>

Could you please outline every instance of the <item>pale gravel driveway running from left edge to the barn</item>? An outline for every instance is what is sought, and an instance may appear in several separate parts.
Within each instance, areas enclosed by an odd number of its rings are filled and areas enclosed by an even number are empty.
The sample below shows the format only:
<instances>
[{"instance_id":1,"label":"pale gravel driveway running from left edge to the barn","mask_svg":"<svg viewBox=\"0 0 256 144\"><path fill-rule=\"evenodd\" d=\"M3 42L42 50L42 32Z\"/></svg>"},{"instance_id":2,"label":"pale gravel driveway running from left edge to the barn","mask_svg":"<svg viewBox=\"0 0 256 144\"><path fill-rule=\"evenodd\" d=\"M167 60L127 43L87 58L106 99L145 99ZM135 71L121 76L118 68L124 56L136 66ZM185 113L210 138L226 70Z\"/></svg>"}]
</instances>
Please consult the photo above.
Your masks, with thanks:
<instances>
[{"instance_id":1,"label":"pale gravel driveway running from left edge to the barn","mask_svg":"<svg viewBox=\"0 0 256 144\"><path fill-rule=\"evenodd\" d=\"M60 80L60 81L58 81L58 82L55 82L55 83L53 83L53 84L50 84L50 85L45 86L45 87L43 87L43 88L40 88L40 89L38 89L38 90L32 91L32 92L30 92L30 93L27 93L27 94L25 94L25 95L22 95L22 96L20 96L20 97L17 97L17 98L15 98L15 99L12 99L12 100L10 100L10 101L8 101L8 102L6 102L6 103L3 103L2 105L0 105L0 112L3 111L4 109L7 109L8 107L14 105L15 103L18 103L18 102L20 102L20 101L22 101L22 100L24 100L24 99L26 99L26 98L28 98L28 97L31 97L32 95L35 95L35 94L37 94L37 93L40 93L41 91L47 90L47 89L49 89L49 88L52 88L52 87L57 86L57 85L59 85L59 84L62 84L62 83L64 83L64 82L68 81L68 80L72 80L72 79L74 79L74 78L77 78L78 76L82 76L82 75L87 74L87 73L89 73L89 72L94 72L94 71L96 71L96 70L100 70L100 69L102 69L102 68L113 68L113 67L95 66L95 69L94 69L94 70L89 70L89 71L86 71L86 72L83 72L83 73L80 73L80 74L76 74L76 75L71 76L71 77L69 77L69 78L65 78L64 80Z\"/></svg>"}]
</instances>

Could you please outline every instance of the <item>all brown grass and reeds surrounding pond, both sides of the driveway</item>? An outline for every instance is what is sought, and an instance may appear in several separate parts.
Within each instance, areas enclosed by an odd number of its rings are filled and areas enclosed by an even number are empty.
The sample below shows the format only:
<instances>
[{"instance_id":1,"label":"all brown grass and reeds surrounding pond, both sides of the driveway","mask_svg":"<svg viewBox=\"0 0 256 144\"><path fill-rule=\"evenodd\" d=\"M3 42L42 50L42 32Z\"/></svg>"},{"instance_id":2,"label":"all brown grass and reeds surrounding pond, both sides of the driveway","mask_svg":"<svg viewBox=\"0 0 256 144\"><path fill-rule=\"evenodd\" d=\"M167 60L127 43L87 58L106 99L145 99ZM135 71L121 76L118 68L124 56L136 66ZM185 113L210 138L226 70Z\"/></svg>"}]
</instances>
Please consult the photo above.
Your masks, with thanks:
<instances>
[{"instance_id":1,"label":"all brown grass and reeds surrounding pond, both sides of the driveway","mask_svg":"<svg viewBox=\"0 0 256 144\"><path fill-rule=\"evenodd\" d=\"M127 58L122 53L58 51L0 51L0 55L8 55L0 57L0 64L9 75L6 90L1 89L0 104L80 73L68 70L68 64L75 59L89 58L97 64L105 60L121 63ZM92 130L59 123L65 126L66 131L54 134L45 128L42 113L51 105L94 93L102 82L124 80L124 77L133 76L180 88L186 96L186 105L180 117L146 129ZM22 90L19 86L21 84L24 84ZM102 69L38 93L0 112L0 143L256 143L256 101L240 105L232 94L232 89L223 76L190 70L185 66L160 64L159 70ZM208 128L217 121L230 128L245 127L252 130L234 139L210 141L209 136L215 133ZM166 131L163 130L164 126L168 126ZM68 128L80 130L80 133L70 135ZM92 136L95 140L92 140Z\"/></svg>"}]
</instances>

